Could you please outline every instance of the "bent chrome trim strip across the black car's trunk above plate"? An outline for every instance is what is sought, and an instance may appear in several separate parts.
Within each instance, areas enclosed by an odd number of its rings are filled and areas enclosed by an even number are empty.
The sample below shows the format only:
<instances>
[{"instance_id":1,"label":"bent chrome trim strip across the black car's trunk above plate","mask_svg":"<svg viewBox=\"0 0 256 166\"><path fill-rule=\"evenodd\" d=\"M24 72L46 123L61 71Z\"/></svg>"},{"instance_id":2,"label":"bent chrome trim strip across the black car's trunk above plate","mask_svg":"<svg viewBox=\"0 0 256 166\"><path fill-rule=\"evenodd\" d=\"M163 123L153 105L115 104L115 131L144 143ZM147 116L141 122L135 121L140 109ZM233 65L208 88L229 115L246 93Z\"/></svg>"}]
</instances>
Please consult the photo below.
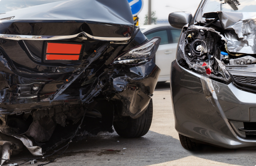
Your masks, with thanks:
<instances>
[{"instance_id":1,"label":"bent chrome trim strip across the black car's trunk above plate","mask_svg":"<svg viewBox=\"0 0 256 166\"><path fill-rule=\"evenodd\" d=\"M81 32L79 34L67 35L67 36L32 36L32 35L14 35L14 34L0 34L0 38L2 39L11 39L11 40L64 40L64 39L72 39L75 37L79 37L84 35L84 37L88 37L95 40L102 41L126 41L129 40L130 37L95 37L86 32Z\"/></svg>"}]
</instances>

